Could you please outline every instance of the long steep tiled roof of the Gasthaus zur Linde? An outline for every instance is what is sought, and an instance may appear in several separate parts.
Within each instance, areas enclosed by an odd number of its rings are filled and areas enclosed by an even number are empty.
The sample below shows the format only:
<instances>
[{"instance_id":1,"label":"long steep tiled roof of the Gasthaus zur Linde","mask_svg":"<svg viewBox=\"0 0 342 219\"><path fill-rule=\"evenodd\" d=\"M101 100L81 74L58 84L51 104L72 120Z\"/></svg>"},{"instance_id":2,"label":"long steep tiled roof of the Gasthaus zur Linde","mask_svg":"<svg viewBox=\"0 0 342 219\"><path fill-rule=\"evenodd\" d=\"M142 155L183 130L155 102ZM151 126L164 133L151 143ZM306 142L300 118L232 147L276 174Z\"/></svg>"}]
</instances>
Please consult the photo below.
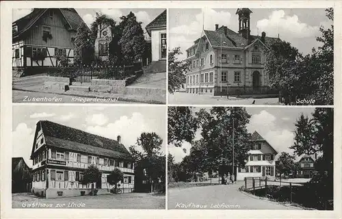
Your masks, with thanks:
<instances>
[{"instance_id":1,"label":"long steep tiled roof of the Gasthaus zur Linde","mask_svg":"<svg viewBox=\"0 0 342 219\"><path fill-rule=\"evenodd\" d=\"M124 145L116 140L96 136L48 120L40 120L38 123L40 123L45 140L50 146L121 159L132 159Z\"/></svg>"}]
</instances>

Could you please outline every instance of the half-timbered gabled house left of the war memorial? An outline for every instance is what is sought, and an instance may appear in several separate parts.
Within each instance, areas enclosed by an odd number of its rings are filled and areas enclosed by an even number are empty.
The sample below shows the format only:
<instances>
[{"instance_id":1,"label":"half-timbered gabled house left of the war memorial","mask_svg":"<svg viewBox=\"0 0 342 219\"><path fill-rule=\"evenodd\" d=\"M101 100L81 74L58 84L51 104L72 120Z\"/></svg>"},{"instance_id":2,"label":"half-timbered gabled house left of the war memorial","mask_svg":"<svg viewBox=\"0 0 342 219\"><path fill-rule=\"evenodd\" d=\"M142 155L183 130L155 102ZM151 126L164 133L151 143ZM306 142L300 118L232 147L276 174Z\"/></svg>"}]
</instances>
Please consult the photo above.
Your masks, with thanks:
<instances>
[{"instance_id":1,"label":"half-timbered gabled house left of the war memorial","mask_svg":"<svg viewBox=\"0 0 342 219\"><path fill-rule=\"evenodd\" d=\"M57 54L74 61L74 40L83 19L73 8L34 8L12 23L14 75L59 64Z\"/></svg>"}]
</instances>

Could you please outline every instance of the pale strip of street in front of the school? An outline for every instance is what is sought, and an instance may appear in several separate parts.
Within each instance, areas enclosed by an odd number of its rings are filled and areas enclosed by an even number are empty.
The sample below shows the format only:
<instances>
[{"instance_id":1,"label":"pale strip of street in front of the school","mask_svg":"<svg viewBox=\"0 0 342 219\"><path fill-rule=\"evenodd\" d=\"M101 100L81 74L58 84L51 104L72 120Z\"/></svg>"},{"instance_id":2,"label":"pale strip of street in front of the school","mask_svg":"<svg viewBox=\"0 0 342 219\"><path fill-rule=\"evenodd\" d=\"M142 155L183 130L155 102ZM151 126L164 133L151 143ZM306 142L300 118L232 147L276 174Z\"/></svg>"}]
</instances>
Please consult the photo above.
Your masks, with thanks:
<instances>
[{"instance_id":1,"label":"pale strip of street in front of the school","mask_svg":"<svg viewBox=\"0 0 342 219\"><path fill-rule=\"evenodd\" d=\"M168 95L168 103L170 104L208 104L208 105L221 105L221 104L234 104L234 105L250 105L255 101L255 105L279 105L278 98L236 98L230 96L227 99L226 96L209 96L188 94L186 92L174 92L174 94Z\"/></svg>"}]
</instances>

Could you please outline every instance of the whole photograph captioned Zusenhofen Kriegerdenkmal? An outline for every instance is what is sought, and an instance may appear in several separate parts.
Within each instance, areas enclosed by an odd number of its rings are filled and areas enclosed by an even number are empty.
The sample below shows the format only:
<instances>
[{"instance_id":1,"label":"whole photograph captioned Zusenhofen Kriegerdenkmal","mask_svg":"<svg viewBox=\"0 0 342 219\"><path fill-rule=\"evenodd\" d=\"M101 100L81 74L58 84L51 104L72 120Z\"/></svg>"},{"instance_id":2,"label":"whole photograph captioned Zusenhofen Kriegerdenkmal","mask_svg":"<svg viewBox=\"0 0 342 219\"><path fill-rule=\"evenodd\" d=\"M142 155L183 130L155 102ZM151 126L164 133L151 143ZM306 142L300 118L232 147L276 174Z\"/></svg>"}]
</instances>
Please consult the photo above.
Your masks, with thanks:
<instances>
[{"instance_id":1,"label":"whole photograph captioned Zusenhofen Kriegerdenkmal","mask_svg":"<svg viewBox=\"0 0 342 219\"><path fill-rule=\"evenodd\" d=\"M164 8L12 10L13 103L166 103Z\"/></svg>"}]
</instances>

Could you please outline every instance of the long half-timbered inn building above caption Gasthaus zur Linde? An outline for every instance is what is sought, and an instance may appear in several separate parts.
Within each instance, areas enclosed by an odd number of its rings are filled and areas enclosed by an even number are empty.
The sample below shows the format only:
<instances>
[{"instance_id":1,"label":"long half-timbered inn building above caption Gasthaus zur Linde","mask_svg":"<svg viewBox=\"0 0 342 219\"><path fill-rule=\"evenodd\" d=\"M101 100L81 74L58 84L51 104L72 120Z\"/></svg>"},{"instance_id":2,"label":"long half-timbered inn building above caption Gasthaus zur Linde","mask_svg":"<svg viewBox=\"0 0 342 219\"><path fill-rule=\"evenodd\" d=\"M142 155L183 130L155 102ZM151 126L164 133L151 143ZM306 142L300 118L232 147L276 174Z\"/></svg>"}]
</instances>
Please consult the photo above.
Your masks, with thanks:
<instances>
[{"instance_id":1,"label":"long half-timbered inn building above caption Gasthaus zur Linde","mask_svg":"<svg viewBox=\"0 0 342 219\"><path fill-rule=\"evenodd\" d=\"M102 172L94 183L98 194L109 194L114 185L107 183L107 176L114 168L124 173L119 182L122 192L133 192L134 160L117 140L96 136L86 131L66 127L47 120L36 125L31 157L33 160L32 192L46 198L89 194L90 183L82 185L83 171L94 164Z\"/></svg>"}]
</instances>

